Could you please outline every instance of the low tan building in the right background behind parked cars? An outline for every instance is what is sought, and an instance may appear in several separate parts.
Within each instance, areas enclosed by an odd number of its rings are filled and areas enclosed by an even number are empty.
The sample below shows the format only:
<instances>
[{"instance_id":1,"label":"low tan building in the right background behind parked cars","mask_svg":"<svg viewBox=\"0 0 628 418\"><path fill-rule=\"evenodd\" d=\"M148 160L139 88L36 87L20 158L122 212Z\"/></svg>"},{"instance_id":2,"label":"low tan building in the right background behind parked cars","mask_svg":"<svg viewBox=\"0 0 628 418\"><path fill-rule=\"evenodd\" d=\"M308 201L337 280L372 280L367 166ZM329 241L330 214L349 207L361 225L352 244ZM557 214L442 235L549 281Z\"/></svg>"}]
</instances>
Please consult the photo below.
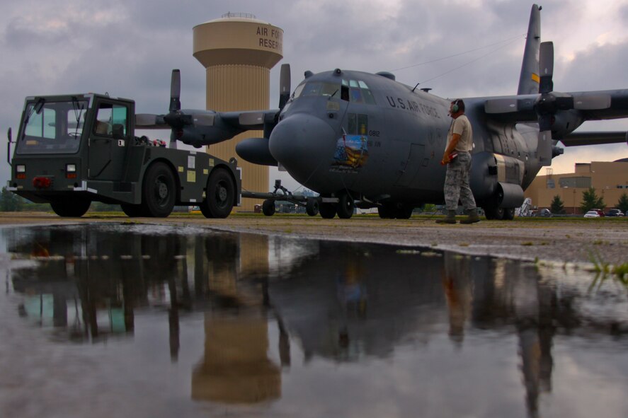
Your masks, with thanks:
<instances>
[{"instance_id":1,"label":"low tan building in the right background behind parked cars","mask_svg":"<svg viewBox=\"0 0 628 418\"><path fill-rule=\"evenodd\" d=\"M546 175L537 175L532 181L525 197L532 199L533 206L549 208L558 195L567 214L580 214L582 194L589 187L604 199L607 208L616 207L620 196L628 194L628 161L576 163L575 173L568 174L552 174L547 168Z\"/></svg>"}]
</instances>

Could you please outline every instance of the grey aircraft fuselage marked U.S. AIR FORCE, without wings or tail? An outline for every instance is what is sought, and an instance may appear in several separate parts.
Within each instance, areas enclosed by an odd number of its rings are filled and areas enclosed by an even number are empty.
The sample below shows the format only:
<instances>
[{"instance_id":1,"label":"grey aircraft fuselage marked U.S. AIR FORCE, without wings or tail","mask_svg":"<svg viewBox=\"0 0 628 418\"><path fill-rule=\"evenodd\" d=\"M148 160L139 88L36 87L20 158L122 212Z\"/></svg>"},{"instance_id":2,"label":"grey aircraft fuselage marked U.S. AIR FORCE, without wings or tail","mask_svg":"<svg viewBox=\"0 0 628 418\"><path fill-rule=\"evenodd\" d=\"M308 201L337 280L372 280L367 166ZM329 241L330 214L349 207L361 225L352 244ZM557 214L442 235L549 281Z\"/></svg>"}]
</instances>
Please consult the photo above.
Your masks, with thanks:
<instances>
[{"instance_id":1,"label":"grey aircraft fuselage marked U.S. AIR FORCE, without wings or tail","mask_svg":"<svg viewBox=\"0 0 628 418\"><path fill-rule=\"evenodd\" d=\"M532 151L538 129L525 126L522 133L513 123L487 123L476 111L485 100L464 99L474 129L472 190L480 204L493 199L498 183L527 187L541 167ZM440 203L450 101L379 74L312 75L282 110L270 153L323 196L345 191L366 202Z\"/></svg>"}]
</instances>

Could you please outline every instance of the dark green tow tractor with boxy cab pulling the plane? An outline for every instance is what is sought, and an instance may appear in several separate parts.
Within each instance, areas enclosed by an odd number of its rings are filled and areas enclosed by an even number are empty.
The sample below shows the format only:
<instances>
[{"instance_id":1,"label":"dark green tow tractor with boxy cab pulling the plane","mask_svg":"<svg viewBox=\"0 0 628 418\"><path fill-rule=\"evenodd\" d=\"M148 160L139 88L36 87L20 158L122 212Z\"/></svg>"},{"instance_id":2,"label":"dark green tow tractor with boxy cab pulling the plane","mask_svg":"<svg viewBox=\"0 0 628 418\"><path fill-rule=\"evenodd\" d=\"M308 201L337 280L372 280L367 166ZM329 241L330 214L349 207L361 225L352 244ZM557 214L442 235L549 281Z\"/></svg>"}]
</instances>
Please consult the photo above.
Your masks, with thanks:
<instances>
[{"instance_id":1,"label":"dark green tow tractor with boxy cab pulling the plane","mask_svg":"<svg viewBox=\"0 0 628 418\"><path fill-rule=\"evenodd\" d=\"M101 94L25 100L8 190L83 216L91 202L120 204L128 216L166 217L175 205L225 218L241 196L237 161L166 148L135 136L135 102Z\"/></svg>"}]
</instances>

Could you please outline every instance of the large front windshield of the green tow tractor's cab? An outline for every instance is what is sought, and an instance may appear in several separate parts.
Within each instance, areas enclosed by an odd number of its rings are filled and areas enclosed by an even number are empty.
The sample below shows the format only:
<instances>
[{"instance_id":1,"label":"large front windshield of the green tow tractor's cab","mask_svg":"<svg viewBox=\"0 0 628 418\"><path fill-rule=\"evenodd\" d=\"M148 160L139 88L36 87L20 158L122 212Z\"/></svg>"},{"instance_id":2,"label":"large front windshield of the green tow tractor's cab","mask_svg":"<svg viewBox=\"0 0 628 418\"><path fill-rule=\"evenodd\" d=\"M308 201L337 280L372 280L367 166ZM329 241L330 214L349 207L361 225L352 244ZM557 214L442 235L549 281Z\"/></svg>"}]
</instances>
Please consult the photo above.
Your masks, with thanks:
<instances>
[{"instance_id":1,"label":"large front windshield of the green tow tractor's cab","mask_svg":"<svg viewBox=\"0 0 628 418\"><path fill-rule=\"evenodd\" d=\"M87 100L27 103L17 153L75 153L81 145Z\"/></svg>"}]
</instances>

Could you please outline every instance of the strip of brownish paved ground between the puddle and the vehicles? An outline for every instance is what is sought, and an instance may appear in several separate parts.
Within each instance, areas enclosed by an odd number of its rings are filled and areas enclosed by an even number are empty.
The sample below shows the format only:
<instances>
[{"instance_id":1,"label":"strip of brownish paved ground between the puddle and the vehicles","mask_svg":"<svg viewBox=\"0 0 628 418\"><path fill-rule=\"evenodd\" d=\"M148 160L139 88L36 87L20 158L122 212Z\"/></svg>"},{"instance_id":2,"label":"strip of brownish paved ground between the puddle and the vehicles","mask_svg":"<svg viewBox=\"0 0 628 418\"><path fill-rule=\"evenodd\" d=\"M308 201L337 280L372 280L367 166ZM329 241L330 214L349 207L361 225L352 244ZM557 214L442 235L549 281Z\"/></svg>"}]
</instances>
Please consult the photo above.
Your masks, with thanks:
<instances>
[{"instance_id":1,"label":"strip of brownish paved ground between the puddle and the vehicles","mask_svg":"<svg viewBox=\"0 0 628 418\"><path fill-rule=\"evenodd\" d=\"M519 260L591 265L592 262L628 263L628 218L620 219L518 219L481 221L473 225L440 225L436 217L379 219L321 219L319 216L229 216L205 219L201 215L173 214L166 219L135 218L89 213L63 219L47 213L3 213L0 225L63 224L85 222L136 222L195 225L219 231L413 245L453 250L470 255L492 255Z\"/></svg>"}]
</instances>

